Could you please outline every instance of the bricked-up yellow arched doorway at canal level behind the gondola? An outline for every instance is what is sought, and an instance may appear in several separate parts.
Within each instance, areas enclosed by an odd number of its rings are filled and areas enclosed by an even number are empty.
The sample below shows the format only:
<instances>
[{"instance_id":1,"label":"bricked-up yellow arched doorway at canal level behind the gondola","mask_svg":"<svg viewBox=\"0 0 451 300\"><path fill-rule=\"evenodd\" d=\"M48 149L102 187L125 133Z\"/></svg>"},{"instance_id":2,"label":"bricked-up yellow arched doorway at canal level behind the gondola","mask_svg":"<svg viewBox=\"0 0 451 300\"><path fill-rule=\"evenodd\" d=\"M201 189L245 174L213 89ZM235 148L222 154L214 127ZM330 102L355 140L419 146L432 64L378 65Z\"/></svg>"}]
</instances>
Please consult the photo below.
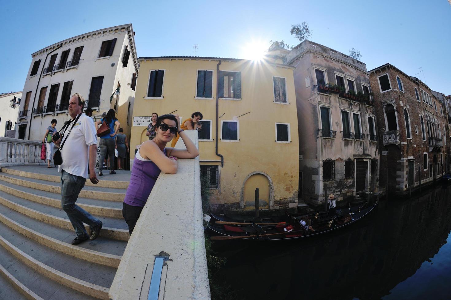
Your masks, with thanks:
<instances>
[{"instance_id":1,"label":"bricked-up yellow arched doorway at canal level behind the gondola","mask_svg":"<svg viewBox=\"0 0 451 300\"><path fill-rule=\"evenodd\" d=\"M272 180L263 172L253 172L244 179L240 205L245 210L255 209L255 189L258 188L259 208L268 209L272 206L274 188Z\"/></svg>"}]
</instances>

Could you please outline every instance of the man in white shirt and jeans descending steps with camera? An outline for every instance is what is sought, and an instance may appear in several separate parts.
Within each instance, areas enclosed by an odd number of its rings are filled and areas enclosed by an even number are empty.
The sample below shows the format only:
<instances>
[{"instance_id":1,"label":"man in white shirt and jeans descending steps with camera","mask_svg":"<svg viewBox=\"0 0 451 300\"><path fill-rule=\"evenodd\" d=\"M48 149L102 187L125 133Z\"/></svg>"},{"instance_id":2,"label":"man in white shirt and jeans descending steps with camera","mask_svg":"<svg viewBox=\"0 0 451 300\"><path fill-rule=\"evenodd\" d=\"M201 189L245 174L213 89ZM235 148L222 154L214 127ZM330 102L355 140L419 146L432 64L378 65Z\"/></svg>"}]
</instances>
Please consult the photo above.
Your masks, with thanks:
<instances>
[{"instance_id":1,"label":"man in white shirt and jeans descending steps with camera","mask_svg":"<svg viewBox=\"0 0 451 300\"><path fill-rule=\"evenodd\" d=\"M96 129L92 119L83 114L84 99L76 93L69 100L69 116L72 121L64 130L62 138L55 141L61 149L63 163L59 166L61 172L61 207L67 213L70 223L74 226L77 237L72 245L77 245L88 238L94 240L98 237L102 222L90 215L86 210L76 205L78 194L89 178L97 184L94 164L97 152ZM75 123L74 123L75 122ZM89 161L89 175L88 175ZM91 234L88 235L83 222L89 225Z\"/></svg>"}]
</instances>

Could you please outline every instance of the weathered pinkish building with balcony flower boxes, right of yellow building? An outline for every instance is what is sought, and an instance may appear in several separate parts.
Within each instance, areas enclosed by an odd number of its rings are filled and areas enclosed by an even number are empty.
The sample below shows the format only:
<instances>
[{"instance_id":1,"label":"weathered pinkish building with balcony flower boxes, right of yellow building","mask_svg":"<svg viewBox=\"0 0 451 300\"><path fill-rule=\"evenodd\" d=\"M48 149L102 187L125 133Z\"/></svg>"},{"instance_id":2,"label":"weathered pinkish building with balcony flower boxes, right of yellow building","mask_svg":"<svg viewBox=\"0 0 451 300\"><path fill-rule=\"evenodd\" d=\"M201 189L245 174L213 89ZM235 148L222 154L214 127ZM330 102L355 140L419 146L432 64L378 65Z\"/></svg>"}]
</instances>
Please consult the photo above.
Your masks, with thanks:
<instances>
[{"instance_id":1,"label":"weathered pinkish building with balcony flower boxes, right of yellow building","mask_svg":"<svg viewBox=\"0 0 451 300\"><path fill-rule=\"evenodd\" d=\"M377 127L366 65L309 40L283 54L283 63L295 67L301 202L377 192Z\"/></svg>"}]
</instances>

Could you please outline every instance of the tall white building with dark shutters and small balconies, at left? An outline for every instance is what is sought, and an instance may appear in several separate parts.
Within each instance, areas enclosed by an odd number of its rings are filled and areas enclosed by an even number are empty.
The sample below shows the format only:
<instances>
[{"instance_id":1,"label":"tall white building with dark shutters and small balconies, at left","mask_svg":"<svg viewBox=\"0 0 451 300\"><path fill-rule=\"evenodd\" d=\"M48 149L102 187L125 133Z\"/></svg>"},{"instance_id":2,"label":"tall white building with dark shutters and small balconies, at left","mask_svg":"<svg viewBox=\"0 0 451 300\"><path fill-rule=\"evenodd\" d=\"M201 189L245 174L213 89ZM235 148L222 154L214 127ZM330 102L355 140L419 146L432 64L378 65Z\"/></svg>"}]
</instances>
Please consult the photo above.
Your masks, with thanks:
<instances>
[{"instance_id":1,"label":"tall white building with dark shutters and small balconies, at left","mask_svg":"<svg viewBox=\"0 0 451 300\"><path fill-rule=\"evenodd\" d=\"M132 24L87 32L36 51L23 87L16 138L41 140L54 118L59 130L69 118L74 93L84 96L94 118L114 108L129 136L138 69Z\"/></svg>"}]
</instances>

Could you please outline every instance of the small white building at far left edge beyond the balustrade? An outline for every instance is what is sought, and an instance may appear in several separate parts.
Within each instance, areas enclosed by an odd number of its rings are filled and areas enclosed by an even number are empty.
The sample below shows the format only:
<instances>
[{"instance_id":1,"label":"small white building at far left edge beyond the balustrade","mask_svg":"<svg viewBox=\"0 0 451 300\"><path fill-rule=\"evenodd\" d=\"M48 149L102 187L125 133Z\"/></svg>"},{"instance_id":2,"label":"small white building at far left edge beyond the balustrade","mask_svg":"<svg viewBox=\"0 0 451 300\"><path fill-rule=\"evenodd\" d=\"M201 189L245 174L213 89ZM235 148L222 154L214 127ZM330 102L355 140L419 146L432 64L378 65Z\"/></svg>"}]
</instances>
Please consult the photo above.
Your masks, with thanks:
<instances>
[{"instance_id":1,"label":"small white building at far left edge beyond the balustrade","mask_svg":"<svg viewBox=\"0 0 451 300\"><path fill-rule=\"evenodd\" d=\"M16 130L17 117L20 111L22 91L0 94L0 136L9 136Z\"/></svg>"}]
</instances>

